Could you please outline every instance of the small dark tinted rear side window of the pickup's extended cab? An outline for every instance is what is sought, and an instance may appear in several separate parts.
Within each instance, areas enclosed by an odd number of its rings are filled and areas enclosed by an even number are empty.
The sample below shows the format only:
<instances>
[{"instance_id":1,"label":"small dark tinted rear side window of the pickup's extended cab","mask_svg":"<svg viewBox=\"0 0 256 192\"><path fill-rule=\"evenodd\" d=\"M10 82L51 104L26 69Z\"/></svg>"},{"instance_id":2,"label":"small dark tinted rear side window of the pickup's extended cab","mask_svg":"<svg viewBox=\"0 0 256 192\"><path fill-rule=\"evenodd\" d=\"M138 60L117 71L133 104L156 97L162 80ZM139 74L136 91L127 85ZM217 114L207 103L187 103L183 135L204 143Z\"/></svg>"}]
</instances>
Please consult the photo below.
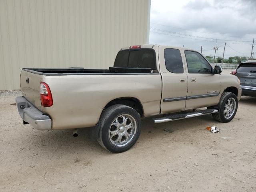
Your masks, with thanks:
<instances>
[{"instance_id":1,"label":"small dark tinted rear side window of the pickup's extended cab","mask_svg":"<svg viewBox=\"0 0 256 192\"><path fill-rule=\"evenodd\" d=\"M164 60L166 69L172 73L183 73L183 62L178 49L165 49Z\"/></svg>"}]
</instances>

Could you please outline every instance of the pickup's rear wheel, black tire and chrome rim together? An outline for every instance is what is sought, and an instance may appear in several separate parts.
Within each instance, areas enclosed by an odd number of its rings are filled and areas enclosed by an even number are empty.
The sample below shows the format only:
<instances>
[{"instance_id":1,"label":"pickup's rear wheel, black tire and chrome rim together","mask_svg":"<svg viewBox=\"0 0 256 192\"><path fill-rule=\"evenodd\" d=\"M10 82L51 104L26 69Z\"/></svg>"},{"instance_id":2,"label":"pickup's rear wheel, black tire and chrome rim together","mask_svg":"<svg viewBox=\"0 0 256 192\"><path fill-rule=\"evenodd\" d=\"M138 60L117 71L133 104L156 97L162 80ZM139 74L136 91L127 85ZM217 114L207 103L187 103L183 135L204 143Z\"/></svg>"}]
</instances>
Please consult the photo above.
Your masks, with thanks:
<instances>
[{"instance_id":1,"label":"pickup's rear wheel, black tire and chrome rim together","mask_svg":"<svg viewBox=\"0 0 256 192\"><path fill-rule=\"evenodd\" d=\"M132 148L140 136L138 112L125 105L107 108L99 120L99 144L110 152L120 153Z\"/></svg>"}]
</instances>

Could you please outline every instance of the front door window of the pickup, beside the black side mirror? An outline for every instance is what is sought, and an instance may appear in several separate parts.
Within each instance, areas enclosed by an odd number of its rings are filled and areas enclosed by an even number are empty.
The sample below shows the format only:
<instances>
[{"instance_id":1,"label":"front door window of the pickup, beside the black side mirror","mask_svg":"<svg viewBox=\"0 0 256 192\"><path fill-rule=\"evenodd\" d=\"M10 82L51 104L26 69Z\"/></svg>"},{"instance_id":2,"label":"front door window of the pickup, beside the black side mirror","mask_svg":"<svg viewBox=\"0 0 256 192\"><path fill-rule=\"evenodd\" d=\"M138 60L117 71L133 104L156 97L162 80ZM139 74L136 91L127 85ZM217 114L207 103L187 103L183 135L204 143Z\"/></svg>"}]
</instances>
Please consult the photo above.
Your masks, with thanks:
<instances>
[{"instance_id":1,"label":"front door window of the pickup, beside the black side mirror","mask_svg":"<svg viewBox=\"0 0 256 192\"><path fill-rule=\"evenodd\" d=\"M212 73L212 67L206 59L197 52L185 51L188 73Z\"/></svg>"}]
</instances>

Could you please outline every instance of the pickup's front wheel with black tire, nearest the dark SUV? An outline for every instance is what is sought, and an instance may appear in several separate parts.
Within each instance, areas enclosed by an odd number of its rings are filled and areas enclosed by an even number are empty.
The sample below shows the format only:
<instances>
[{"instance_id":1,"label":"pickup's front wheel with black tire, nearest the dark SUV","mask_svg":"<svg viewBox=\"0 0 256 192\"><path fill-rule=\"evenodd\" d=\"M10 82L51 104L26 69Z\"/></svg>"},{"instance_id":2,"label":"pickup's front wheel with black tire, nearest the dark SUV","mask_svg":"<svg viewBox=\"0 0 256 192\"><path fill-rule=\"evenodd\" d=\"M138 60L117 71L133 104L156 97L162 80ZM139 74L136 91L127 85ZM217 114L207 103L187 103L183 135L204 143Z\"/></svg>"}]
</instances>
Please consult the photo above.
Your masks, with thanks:
<instances>
[{"instance_id":1,"label":"pickup's front wheel with black tire, nearest the dark SUV","mask_svg":"<svg viewBox=\"0 0 256 192\"><path fill-rule=\"evenodd\" d=\"M238 99L234 93L224 92L217 106L218 113L212 114L213 118L222 123L230 122L236 115Z\"/></svg>"}]
</instances>

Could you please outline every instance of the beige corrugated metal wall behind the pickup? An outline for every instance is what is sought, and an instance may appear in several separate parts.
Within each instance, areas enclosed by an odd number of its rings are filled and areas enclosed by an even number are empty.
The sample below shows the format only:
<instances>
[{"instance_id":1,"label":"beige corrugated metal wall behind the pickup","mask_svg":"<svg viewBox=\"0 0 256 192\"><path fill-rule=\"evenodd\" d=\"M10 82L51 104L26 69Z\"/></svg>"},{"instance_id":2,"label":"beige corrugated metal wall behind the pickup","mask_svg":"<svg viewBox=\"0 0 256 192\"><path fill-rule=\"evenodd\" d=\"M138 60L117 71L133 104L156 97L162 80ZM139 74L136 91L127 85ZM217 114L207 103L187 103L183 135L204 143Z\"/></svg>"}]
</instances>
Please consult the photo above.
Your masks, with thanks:
<instances>
[{"instance_id":1,"label":"beige corrugated metal wall behind the pickup","mask_svg":"<svg viewBox=\"0 0 256 192\"><path fill-rule=\"evenodd\" d=\"M146 44L150 0L0 0L0 90L22 68L108 68L118 50Z\"/></svg>"}]
</instances>

